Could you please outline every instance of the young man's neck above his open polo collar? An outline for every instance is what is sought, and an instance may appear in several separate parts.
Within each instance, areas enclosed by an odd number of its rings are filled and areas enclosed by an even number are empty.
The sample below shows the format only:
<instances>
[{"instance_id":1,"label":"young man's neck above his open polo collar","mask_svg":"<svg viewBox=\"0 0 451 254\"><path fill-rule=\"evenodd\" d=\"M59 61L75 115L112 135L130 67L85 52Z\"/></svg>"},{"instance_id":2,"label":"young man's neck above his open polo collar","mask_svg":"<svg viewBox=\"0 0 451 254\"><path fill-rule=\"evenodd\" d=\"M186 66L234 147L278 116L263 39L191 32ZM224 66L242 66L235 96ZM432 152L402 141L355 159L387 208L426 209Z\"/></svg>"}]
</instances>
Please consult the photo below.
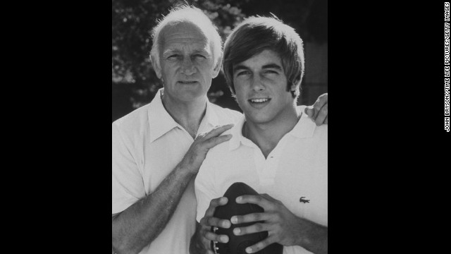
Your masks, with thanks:
<instances>
[{"instance_id":1,"label":"young man's neck above his open polo collar","mask_svg":"<svg viewBox=\"0 0 451 254\"><path fill-rule=\"evenodd\" d=\"M302 112L298 112L296 107L284 111L277 119L267 123L254 123L246 121L242 133L246 138L252 140L261 150L264 157L277 146L283 136L289 133L299 121Z\"/></svg>"}]
</instances>

